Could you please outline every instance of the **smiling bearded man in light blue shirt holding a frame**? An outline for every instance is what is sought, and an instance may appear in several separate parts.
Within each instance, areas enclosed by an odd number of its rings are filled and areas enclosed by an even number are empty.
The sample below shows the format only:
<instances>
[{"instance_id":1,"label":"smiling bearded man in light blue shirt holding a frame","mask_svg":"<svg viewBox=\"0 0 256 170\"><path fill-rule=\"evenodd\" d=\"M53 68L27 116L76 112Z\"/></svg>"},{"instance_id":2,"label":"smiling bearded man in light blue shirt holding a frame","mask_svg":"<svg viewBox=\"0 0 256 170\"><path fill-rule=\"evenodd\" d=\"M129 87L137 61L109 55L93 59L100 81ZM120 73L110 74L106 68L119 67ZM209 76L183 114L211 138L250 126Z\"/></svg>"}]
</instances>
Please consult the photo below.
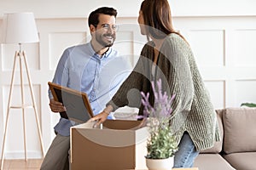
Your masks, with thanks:
<instances>
[{"instance_id":1,"label":"smiling bearded man in light blue shirt holding a frame","mask_svg":"<svg viewBox=\"0 0 256 170\"><path fill-rule=\"evenodd\" d=\"M117 12L113 8L98 8L88 19L91 41L67 48L61 56L53 82L82 91L88 95L94 114L102 112L125 78L131 72L129 60L119 56L111 46L116 37ZM49 91L50 109L66 111ZM113 115L109 114L109 119ZM57 134L44 157L41 169L68 169L70 127L76 122L62 118L55 126Z\"/></svg>"}]
</instances>

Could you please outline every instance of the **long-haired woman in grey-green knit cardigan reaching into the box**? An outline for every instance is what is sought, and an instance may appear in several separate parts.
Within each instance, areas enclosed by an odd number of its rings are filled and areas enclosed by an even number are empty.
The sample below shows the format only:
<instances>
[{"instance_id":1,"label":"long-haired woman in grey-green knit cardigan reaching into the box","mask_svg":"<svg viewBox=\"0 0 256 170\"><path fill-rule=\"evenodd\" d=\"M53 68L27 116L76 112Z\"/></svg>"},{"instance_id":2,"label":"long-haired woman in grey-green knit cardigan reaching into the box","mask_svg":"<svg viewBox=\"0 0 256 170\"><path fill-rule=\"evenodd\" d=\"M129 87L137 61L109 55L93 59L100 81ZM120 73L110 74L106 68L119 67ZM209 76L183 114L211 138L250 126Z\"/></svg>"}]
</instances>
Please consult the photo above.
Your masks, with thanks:
<instances>
[{"instance_id":1,"label":"long-haired woman in grey-green knit cardigan reaching into the box","mask_svg":"<svg viewBox=\"0 0 256 170\"><path fill-rule=\"evenodd\" d=\"M141 33L148 37L137 65L102 113L93 117L98 124L110 112L125 105L139 108L141 94L149 92L154 105L151 81L161 79L162 89L175 94L171 122L179 144L174 167L192 167L200 150L219 140L218 122L207 89L195 64L189 43L172 27L167 0L144 0L139 11ZM149 41L151 39L152 41Z\"/></svg>"}]
</instances>

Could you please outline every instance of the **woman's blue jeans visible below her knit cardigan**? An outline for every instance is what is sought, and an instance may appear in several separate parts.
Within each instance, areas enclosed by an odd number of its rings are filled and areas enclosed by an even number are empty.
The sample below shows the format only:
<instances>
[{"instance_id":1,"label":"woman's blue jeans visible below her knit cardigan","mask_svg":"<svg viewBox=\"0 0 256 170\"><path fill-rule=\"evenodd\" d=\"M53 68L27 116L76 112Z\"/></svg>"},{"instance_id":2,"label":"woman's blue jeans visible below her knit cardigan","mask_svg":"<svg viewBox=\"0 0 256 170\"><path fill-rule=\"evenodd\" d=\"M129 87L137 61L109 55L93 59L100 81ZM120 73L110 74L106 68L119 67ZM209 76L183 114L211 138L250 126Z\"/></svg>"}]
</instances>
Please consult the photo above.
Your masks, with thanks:
<instances>
[{"instance_id":1,"label":"woman's blue jeans visible below her knit cardigan","mask_svg":"<svg viewBox=\"0 0 256 170\"><path fill-rule=\"evenodd\" d=\"M178 150L174 156L173 167L193 167L195 157L199 151L195 150L195 144L189 136L189 133L183 133L183 138L178 144Z\"/></svg>"}]
</instances>

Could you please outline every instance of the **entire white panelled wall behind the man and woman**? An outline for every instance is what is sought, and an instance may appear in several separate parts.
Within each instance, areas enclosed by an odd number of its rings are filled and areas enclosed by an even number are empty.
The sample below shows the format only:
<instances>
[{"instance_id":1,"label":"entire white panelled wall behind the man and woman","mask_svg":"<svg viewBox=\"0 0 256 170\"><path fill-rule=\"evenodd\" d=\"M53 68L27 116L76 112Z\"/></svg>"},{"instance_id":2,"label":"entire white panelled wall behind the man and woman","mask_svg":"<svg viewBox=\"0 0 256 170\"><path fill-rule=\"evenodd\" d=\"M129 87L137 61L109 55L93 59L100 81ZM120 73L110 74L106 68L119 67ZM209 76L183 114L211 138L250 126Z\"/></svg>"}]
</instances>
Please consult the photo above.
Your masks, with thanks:
<instances>
[{"instance_id":1,"label":"entire white panelled wall behind the man and woman","mask_svg":"<svg viewBox=\"0 0 256 170\"><path fill-rule=\"evenodd\" d=\"M36 16L40 42L26 44L27 60L41 122L44 149L54 138L53 127L58 115L49 111L47 82L51 81L55 66L64 48L90 39L87 16L92 9L108 5L119 11L122 24L114 48L135 64L145 38L137 27L141 1L87 0L32 1L0 0L0 19L4 13L31 11ZM193 48L213 105L216 109L238 107L241 102L256 102L256 1L253 0L170 0L173 25L186 37ZM0 20L0 31L2 20ZM0 37L2 35L0 34ZM124 48L125 47L125 48ZM9 82L15 44L0 47L0 144L9 98ZM15 77L12 102L20 103L19 72ZM26 82L26 80L25 80ZM31 103L26 82L26 102ZM127 110L125 110L127 111ZM130 111L130 110L129 110ZM28 157L40 157L40 145L32 109L26 109ZM16 144L18 143L18 144ZM0 152L2 147L0 148ZM6 158L23 158L23 131L21 111L10 111Z\"/></svg>"}]
</instances>

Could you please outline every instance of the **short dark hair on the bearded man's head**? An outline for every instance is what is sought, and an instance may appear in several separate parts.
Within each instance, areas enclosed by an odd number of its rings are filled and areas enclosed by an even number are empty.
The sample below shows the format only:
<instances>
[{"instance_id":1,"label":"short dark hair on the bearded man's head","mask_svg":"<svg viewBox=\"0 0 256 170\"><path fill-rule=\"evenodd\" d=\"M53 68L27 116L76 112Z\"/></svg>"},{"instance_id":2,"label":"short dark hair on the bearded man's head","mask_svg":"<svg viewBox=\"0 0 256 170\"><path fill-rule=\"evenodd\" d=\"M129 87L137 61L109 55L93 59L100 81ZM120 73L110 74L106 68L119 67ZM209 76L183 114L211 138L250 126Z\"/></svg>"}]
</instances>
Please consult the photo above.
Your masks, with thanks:
<instances>
[{"instance_id":1,"label":"short dark hair on the bearded man's head","mask_svg":"<svg viewBox=\"0 0 256 170\"><path fill-rule=\"evenodd\" d=\"M99 15L100 14L108 14L110 16L114 16L116 18L117 11L114 8L102 7L97 8L95 11L92 11L88 18L88 26L93 25L97 26L99 24Z\"/></svg>"}]
</instances>

